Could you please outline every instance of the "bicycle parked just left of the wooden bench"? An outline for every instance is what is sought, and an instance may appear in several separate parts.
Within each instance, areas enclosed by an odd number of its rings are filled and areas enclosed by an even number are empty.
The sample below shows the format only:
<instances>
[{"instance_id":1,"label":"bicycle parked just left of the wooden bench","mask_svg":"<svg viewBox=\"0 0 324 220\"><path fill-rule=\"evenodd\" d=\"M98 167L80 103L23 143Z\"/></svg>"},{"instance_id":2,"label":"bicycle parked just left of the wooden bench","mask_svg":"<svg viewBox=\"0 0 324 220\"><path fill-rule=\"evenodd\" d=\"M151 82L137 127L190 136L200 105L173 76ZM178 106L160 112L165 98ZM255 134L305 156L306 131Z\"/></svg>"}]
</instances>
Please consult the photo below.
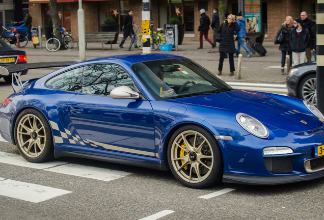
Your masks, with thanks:
<instances>
[{"instance_id":1,"label":"bicycle parked just left of the wooden bench","mask_svg":"<svg viewBox=\"0 0 324 220\"><path fill-rule=\"evenodd\" d=\"M61 35L62 35L62 44L66 49L72 49L73 48L73 38L71 35L69 35L66 31L65 28L61 29L54 29L54 31L60 30ZM46 41L46 49L50 52L55 52L58 51L61 47L61 42L58 38L55 37L54 33L52 33L53 37L49 38Z\"/></svg>"}]
</instances>

